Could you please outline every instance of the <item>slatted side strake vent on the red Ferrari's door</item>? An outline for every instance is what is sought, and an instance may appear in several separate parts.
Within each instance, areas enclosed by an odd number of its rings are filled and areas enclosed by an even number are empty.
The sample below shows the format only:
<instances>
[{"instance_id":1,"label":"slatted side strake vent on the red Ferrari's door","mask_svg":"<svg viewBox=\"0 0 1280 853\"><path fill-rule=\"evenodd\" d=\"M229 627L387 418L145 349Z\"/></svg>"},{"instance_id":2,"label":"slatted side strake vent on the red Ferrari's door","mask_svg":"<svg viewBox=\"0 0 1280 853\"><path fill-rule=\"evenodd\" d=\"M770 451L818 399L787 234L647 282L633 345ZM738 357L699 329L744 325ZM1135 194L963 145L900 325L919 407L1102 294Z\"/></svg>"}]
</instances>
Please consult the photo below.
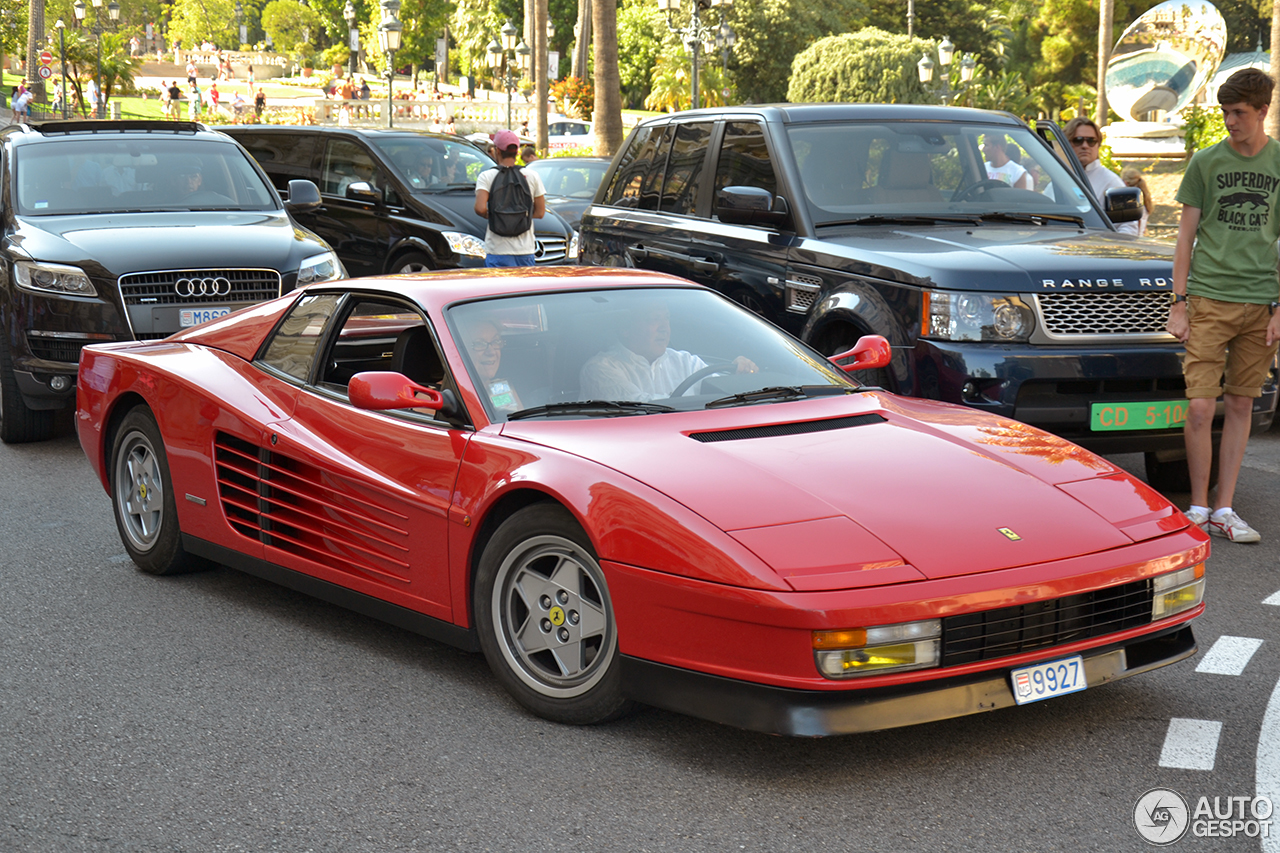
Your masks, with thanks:
<instances>
[{"instance_id":1,"label":"slatted side strake vent on the red Ferrari's door","mask_svg":"<svg viewBox=\"0 0 1280 853\"><path fill-rule=\"evenodd\" d=\"M355 484L227 433L215 443L218 497L238 533L333 569L408 580L408 517Z\"/></svg>"}]
</instances>

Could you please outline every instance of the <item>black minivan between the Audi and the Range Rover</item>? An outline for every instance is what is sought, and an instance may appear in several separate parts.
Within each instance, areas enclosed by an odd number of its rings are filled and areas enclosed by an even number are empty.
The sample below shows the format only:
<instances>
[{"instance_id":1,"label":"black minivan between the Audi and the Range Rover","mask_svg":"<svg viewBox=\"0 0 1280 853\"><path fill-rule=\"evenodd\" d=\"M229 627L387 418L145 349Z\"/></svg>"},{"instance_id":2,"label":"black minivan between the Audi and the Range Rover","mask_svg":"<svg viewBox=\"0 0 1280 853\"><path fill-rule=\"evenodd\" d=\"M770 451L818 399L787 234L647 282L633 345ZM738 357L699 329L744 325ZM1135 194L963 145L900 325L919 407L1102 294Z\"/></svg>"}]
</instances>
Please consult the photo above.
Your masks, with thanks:
<instances>
[{"instance_id":1,"label":"black minivan between the Audi and the Range Rover","mask_svg":"<svg viewBox=\"0 0 1280 853\"><path fill-rule=\"evenodd\" d=\"M452 133L352 127L227 126L285 193L305 178L323 204L297 216L353 275L484 266L476 175L494 165ZM549 211L535 222L538 264L575 263L577 234Z\"/></svg>"}]
</instances>

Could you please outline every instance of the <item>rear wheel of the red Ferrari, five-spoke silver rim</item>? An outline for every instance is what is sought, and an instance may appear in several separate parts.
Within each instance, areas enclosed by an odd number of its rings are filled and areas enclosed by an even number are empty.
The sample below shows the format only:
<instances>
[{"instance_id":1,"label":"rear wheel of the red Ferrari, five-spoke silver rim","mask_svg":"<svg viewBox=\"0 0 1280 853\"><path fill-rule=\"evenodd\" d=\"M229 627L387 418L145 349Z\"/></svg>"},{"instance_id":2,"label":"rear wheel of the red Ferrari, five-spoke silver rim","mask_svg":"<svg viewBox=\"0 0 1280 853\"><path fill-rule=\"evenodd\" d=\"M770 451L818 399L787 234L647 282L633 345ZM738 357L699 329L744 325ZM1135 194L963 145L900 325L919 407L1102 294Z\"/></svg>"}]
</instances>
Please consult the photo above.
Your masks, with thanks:
<instances>
[{"instance_id":1,"label":"rear wheel of the red Ferrari, five-spoke silver rim","mask_svg":"<svg viewBox=\"0 0 1280 853\"><path fill-rule=\"evenodd\" d=\"M209 567L182 547L169 459L155 416L138 407L124 416L110 456L111 507L120 540L138 569L175 575Z\"/></svg>"}]
</instances>

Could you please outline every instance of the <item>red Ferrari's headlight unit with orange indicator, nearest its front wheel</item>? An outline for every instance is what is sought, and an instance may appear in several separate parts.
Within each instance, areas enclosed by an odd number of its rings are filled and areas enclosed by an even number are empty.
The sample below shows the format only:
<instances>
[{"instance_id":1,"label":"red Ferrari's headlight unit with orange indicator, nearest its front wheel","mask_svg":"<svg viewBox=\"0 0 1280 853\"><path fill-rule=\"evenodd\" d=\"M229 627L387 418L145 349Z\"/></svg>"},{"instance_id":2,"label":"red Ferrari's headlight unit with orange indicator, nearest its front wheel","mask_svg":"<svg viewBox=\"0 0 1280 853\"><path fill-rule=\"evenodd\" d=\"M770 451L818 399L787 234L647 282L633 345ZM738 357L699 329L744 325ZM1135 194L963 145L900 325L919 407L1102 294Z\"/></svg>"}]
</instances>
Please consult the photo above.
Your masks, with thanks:
<instances>
[{"instance_id":1,"label":"red Ferrari's headlight unit with orange indicator, nearest its front wheel","mask_svg":"<svg viewBox=\"0 0 1280 853\"><path fill-rule=\"evenodd\" d=\"M942 620L814 631L813 658L828 679L924 670L942 658Z\"/></svg>"}]
</instances>

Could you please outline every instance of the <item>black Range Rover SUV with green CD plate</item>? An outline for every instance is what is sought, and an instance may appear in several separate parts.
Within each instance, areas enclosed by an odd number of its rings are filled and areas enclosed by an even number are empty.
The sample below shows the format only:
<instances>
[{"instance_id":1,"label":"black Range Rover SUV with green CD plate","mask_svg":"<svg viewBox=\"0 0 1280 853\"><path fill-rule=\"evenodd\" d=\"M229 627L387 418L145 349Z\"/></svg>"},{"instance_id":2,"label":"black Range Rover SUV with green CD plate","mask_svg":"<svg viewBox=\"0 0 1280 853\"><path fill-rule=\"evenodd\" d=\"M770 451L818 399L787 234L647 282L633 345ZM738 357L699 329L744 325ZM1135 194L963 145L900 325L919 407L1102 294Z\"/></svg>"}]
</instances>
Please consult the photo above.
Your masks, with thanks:
<instances>
[{"instance_id":1,"label":"black Range Rover SUV with green CD plate","mask_svg":"<svg viewBox=\"0 0 1280 853\"><path fill-rule=\"evenodd\" d=\"M1056 126L1004 113L677 113L614 158L581 263L701 282L828 355L883 334L893 360L873 383L1144 451L1153 484L1184 488L1174 247L1116 232L1138 218L1137 191L1110 191L1103 210L1087 187ZM1276 396L1272 374L1254 429Z\"/></svg>"}]
</instances>

